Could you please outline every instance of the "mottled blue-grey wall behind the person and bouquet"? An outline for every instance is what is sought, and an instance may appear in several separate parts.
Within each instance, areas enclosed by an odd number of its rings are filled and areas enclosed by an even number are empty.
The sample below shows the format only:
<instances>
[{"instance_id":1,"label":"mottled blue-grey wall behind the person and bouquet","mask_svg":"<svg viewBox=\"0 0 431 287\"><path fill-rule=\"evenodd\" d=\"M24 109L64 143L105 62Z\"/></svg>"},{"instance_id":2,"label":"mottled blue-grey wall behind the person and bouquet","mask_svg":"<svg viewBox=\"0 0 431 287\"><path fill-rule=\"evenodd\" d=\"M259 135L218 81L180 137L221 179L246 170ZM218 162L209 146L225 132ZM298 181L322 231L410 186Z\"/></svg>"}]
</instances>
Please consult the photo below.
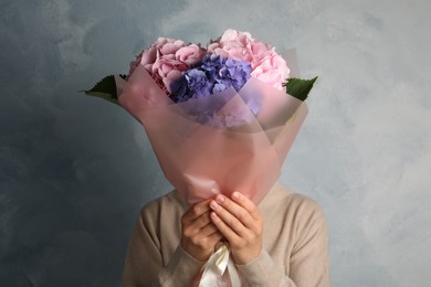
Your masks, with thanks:
<instances>
[{"instance_id":1,"label":"mottled blue-grey wall behind the person and bouquet","mask_svg":"<svg viewBox=\"0 0 431 287\"><path fill-rule=\"evenodd\" d=\"M428 286L430 8L0 0L0 286L120 286L136 214L169 185L143 128L77 91L159 35L227 28L297 47L303 76L320 76L281 181L325 209L334 286Z\"/></svg>"}]
</instances>

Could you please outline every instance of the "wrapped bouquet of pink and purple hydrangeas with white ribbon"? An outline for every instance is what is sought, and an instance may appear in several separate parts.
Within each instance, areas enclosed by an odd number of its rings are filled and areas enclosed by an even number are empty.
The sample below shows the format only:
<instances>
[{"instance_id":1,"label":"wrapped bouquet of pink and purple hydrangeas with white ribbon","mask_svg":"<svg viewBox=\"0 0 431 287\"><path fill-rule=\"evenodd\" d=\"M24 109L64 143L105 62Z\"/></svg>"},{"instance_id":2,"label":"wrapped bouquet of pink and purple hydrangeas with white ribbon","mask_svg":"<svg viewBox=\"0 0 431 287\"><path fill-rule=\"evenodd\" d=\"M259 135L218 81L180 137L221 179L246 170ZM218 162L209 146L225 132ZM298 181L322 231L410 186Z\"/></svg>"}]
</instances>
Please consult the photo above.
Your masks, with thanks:
<instances>
[{"instance_id":1,"label":"wrapped bouquet of pink and purple hydrangeas with white ribbon","mask_svg":"<svg viewBox=\"0 0 431 287\"><path fill-rule=\"evenodd\" d=\"M235 190L259 203L280 176L317 78L291 74L273 46L227 30L207 47L159 38L127 75L107 76L85 93L144 125L164 174L190 204ZM213 265L223 267L214 274ZM201 283L228 268L238 284L232 265L220 247Z\"/></svg>"}]
</instances>

